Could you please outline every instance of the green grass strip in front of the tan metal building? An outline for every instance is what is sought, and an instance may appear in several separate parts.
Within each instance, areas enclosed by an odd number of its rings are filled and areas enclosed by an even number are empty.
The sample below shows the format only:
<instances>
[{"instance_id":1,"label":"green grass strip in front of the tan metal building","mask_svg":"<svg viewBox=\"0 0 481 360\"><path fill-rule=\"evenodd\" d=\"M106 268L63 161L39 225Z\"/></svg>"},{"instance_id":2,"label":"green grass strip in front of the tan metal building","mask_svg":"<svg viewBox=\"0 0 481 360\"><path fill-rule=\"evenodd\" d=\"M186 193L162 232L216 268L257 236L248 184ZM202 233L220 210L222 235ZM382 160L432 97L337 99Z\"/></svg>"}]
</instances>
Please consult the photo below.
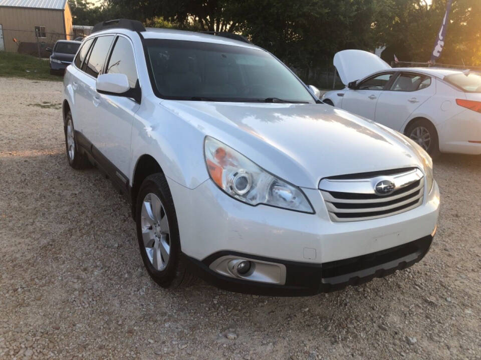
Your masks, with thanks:
<instances>
[{"instance_id":1,"label":"green grass strip in front of the tan metal building","mask_svg":"<svg viewBox=\"0 0 481 360\"><path fill-rule=\"evenodd\" d=\"M62 81L63 79L62 76L50 74L50 64L46 59L6 51L0 51L0 76L32 80Z\"/></svg>"}]
</instances>

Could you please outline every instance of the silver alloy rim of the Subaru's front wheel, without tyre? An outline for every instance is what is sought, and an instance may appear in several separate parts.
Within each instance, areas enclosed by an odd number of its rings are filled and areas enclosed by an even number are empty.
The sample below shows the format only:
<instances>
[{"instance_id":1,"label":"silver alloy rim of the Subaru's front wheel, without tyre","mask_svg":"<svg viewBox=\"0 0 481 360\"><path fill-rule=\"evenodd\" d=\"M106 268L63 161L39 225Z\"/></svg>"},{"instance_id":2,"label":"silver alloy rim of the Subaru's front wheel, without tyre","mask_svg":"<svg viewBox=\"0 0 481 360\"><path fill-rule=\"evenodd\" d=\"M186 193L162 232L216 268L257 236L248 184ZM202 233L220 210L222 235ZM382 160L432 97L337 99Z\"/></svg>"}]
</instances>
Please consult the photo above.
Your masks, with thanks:
<instances>
[{"instance_id":1,"label":"silver alloy rim of the Subaru's front wheel, without tyre","mask_svg":"<svg viewBox=\"0 0 481 360\"><path fill-rule=\"evenodd\" d=\"M150 263L157 271L164 270L170 257L169 222L162 202L152 192L142 201L141 229Z\"/></svg>"}]
</instances>

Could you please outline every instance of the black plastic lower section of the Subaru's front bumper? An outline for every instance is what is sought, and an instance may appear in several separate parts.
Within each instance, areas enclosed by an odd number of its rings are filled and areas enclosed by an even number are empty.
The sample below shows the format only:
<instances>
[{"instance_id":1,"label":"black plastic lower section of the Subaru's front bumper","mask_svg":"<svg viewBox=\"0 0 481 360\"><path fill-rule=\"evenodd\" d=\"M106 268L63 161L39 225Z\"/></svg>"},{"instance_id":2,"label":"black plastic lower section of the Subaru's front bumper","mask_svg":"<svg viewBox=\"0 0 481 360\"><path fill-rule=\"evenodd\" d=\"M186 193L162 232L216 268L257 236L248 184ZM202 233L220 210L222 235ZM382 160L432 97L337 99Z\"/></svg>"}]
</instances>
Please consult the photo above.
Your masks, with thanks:
<instances>
[{"instance_id":1,"label":"black plastic lower section of the Subaru's front bumper","mask_svg":"<svg viewBox=\"0 0 481 360\"><path fill-rule=\"evenodd\" d=\"M271 296L307 296L340 290L347 285L359 285L374 277L383 277L398 269L409 267L424 257L431 242L432 236L428 235L386 250L321 264L249 255L258 260L285 265L287 277L286 283L283 285L226 277L209 268L215 259L226 254L239 257L244 257L245 254L220 251L208 256L203 261L186 257L196 267L196 270L201 270L200 272L196 271L200 277L225 290Z\"/></svg>"}]
</instances>

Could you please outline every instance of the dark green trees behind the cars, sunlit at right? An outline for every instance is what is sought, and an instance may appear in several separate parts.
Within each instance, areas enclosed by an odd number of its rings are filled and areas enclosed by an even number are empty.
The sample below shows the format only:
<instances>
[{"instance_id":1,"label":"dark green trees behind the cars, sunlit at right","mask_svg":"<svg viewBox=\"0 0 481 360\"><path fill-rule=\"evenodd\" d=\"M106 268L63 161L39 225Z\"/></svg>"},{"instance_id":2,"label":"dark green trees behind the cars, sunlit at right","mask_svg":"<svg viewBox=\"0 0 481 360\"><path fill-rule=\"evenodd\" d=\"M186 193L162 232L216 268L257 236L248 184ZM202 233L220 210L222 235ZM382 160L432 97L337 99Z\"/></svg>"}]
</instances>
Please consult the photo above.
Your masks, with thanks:
<instances>
[{"instance_id":1,"label":"dark green trees behind the cars, sunlit at right","mask_svg":"<svg viewBox=\"0 0 481 360\"><path fill-rule=\"evenodd\" d=\"M297 68L332 64L336 51L427 61L447 0L70 0L75 24L135 18L148 26L242 33ZM453 0L440 62L481 64L481 0Z\"/></svg>"}]
</instances>

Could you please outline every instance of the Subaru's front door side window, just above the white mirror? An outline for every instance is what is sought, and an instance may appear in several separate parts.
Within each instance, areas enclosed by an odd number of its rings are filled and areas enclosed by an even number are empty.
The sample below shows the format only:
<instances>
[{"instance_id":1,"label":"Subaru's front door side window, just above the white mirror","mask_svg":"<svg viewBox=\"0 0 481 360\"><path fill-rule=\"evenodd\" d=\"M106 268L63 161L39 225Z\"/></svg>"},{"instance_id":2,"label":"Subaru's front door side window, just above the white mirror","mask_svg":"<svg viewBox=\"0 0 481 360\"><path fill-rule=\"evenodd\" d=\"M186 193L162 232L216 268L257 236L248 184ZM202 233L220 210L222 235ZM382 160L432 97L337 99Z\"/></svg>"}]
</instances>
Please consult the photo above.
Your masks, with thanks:
<instances>
[{"instance_id":1,"label":"Subaru's front door side window, just above the white mirror","mask_svg":"<svg viewBox=\"0 0 481 360\"><path fill-rule=\"evenodd\" d=\"M125 37L119 36L117 38L107 66L107 73L123 73L127 75L130 87L135 87L137 69L135 67L134 51L130 41Z\"/></svg>"}]
</instances>

